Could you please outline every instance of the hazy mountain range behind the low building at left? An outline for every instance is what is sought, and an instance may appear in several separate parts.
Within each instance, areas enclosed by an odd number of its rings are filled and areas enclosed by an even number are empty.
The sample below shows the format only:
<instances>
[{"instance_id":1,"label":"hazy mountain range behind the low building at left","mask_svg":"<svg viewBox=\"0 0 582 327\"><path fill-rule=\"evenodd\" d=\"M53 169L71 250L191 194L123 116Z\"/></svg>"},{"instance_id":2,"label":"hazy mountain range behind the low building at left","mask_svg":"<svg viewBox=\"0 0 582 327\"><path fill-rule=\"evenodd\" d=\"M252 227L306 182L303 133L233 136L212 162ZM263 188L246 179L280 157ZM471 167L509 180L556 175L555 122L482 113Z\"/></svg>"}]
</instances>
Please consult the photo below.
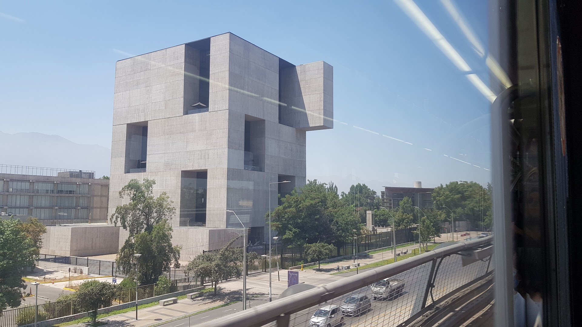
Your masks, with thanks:
<instances>
[{"instance_id":1,"label":"hazy mountain range behind the low building at left","mask_svg":"<svg viewBox=\"0 0 582 327\"><path fill-rule=\"evenodd\" d=\"M0 164L95 170L109 176L111 149L97 144L77 144L58 135L8 134L0 131Z\"/></svg>"}]
</instances>

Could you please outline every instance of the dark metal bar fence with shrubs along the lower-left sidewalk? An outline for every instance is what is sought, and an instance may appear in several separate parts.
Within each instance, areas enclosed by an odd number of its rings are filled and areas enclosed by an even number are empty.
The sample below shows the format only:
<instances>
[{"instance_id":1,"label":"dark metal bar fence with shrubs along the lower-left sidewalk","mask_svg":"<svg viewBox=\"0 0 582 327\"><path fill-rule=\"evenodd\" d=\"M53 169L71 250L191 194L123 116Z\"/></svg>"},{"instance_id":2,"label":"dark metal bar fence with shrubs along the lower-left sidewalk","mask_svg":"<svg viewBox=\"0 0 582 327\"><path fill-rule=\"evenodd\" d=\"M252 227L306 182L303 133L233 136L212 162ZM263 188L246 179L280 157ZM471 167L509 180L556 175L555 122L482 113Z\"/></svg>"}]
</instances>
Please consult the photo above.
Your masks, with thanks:
<instances>
[{"instance_id":1,"label":"dark metal bar fence with shrubs along the lower-left sidewalk","mask_svg":"<svg viewBox=\"0 0 582 327\"><path fill-rule=\"evenodd\" d=\"M197 278L183 278L172 280L169 289L159 289L155 284L142 285L137 287L139 299L150 298L166 293L178 292L181 290L188 290L194 287L201 286ZM114 297L107 299L105 305L101 305L99 309L109 307L111 305L123 304L136 301L136 288L118 290ZM35 305L28 307L5 310L0 315L0 327L17 327L34 322ZM48 319L62 318L69 315L80 314L90 311L84 303L79 303L74 300L55 301L38 305L38 321Z\"/></svg>"}]
</instances>

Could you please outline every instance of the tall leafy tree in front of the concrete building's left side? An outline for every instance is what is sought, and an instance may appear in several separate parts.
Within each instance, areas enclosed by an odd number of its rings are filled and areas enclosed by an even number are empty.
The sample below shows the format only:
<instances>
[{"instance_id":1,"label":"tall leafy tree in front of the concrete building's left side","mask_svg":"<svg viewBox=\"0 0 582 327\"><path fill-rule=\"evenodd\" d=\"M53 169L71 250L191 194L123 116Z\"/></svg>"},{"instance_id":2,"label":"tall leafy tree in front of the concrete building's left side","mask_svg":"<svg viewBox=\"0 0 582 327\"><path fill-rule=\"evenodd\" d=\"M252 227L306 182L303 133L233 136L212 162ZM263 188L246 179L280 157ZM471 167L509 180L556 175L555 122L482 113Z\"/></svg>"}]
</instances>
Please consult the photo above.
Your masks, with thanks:
<instances>
[{"instance_id":1,"label":"tall leafy tree in front of the concrete building's left side","mask_svg":"<svg viewBox=\"0 0 582 327\"><path fill-rule=\"evenodd\" d=\"M172 226L168 223L176 209L165 192L154 197L154 185L152 179L130 180L119 191L119 197L128 197L129 203L118 205L111 215L115 225L119 222L129 232L116 258L118 271L132 273L136 266L133 255L141 254L140 284L155 283L180 256L180 247L172 246Z\"/></svg>"}]
</instances>

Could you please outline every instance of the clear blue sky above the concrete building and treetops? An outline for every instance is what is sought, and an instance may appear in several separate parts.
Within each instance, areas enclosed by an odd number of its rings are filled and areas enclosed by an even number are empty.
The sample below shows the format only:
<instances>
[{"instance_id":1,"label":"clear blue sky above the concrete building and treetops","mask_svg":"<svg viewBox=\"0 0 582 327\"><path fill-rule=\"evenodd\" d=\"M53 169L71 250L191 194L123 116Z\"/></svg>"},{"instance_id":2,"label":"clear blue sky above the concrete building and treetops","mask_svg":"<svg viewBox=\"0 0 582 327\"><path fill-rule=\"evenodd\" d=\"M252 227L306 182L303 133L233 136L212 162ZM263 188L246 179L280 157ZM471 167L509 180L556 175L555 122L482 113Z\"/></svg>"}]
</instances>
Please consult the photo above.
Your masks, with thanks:
<instances>
[{"instance_id":1,"label":"clear blue sky above the concrete building and treetops","mask_svg":"<svg viewBox=\"0 0 582 327\"><path fill-rule=\"evenodd\" d=\"M416 5L488 84L484 57L445 2ZM487 1L447 3L486 50ZM5 2L0 30L9 49L0 51L5 133L111 147L115 61L127 57L119 51L139 55L230 31L296 65L334 67L338 122L307 133L308 179L377 191L490 180L491 102L392 1Z\"/></svg>"}]
</instances>

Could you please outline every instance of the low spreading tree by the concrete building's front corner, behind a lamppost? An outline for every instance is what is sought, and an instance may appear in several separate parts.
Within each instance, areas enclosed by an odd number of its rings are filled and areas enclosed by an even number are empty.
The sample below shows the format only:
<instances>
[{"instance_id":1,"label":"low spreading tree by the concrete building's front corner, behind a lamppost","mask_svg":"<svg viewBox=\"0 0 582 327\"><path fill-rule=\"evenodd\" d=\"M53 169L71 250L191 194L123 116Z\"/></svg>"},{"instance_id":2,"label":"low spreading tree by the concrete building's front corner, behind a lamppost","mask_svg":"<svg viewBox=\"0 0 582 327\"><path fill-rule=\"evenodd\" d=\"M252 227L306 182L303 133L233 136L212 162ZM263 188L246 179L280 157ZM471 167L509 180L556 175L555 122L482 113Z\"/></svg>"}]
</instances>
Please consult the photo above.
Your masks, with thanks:
<instances>
[{"instance_id":1,"label":"low spreading tree by the concrete building's front corner, behind a lamppost","mask_svg":"<svg viewBox=\"0 0 582 327\"><path fill-rule=\"evenodd\" d=\"M213 282L216 295L218 282L242 275L243 248L231 247L239 237L233 238L218 251L198 254L188 262L186 273ZM257 259L257 253L247 253L247 266L249 262Z\"/></svg>"}]
</instances>

